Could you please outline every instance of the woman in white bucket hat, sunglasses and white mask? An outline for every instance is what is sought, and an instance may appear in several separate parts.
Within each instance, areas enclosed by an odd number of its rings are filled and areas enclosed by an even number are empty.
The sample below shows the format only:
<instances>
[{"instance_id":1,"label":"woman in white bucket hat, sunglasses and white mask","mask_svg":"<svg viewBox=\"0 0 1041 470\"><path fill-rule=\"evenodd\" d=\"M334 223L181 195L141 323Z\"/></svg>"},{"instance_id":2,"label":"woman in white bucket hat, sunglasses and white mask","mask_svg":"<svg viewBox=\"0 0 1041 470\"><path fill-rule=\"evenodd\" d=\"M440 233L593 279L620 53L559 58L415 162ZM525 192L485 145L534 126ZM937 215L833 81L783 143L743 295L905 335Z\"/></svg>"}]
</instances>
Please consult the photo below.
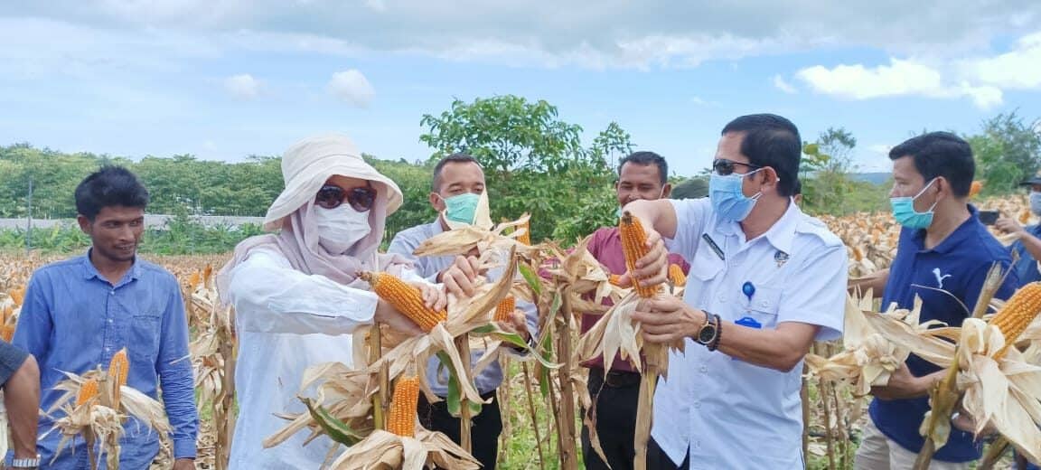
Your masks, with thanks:
<instances>
[{"instance_id":1,"label":"woman in white bucket hat, sunglasses and white mask","mask_svg":"<svg viewBox=\"0 0 1041 470\"><path fill-rule=\"evenodd\" d=\"M304 370L327 362L352 364L350 333L374 321L408 333L410 320L356 278L360 270L413 280L428 305L443 291L424 283L402 257L377 252L386 217L401 190L366 164L339 134L305 139L282 156L285 190L272 203L264 229L281 232L243 241L218 275L222 299L235 307L239 340L235 382L238 420L232 469L318 468L333 444L303 446L298 432L277 447L262 441L287 423L275 414L306 411L297 399Z\"/></svg>"}]
</instances>

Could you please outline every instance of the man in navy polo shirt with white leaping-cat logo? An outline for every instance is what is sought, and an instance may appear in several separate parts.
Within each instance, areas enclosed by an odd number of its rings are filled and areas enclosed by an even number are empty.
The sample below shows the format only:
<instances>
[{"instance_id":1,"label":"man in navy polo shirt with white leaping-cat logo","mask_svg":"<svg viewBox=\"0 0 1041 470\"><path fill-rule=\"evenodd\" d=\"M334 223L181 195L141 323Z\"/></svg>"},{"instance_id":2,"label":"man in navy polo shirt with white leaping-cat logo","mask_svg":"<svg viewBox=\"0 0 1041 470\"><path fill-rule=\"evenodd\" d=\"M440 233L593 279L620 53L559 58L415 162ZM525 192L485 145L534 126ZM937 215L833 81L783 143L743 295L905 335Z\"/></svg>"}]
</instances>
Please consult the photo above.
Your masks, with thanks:
<instances>
[{"instance_id":1,"label":"man in navy polo shirt with white leaping-cat logo","mask_svg":"<svg viewBox=\"0 0 1041 470\"><path fill-rule=\"evenodd\" d=\"M968 204L975 172L972 149L949 132L912 138L889 152L893 160L890 201L904 226L896 258L885 282L882 304L913 306L922 300L922 322L959 326L980 296L993 263L1008 269L1011 257L980 223ZM1018 286L1011 273L995 297L1006 299ZM965 306L963 306L963 304ZM911 468L924 443L918 429L929 411L929 391L943 375L938 367L912 355L887 387L874 387L864 440L857 450L858 470ZM951 428L937 450L932 469L967 469L980 457L972 434Z\"/></svg>"}]
</instances>

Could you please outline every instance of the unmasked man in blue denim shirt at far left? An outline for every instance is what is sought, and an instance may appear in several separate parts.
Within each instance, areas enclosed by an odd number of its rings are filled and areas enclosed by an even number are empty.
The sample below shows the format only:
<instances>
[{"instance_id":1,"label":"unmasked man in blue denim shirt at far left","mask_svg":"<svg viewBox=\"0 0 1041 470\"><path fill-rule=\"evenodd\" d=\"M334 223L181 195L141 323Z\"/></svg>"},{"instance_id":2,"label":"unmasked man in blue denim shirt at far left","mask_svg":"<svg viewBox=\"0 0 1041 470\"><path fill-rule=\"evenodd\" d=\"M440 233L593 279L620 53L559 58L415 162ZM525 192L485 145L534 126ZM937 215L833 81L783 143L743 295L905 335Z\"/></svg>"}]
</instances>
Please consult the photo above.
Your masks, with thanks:
<instances>
[{"instance_id":1,"label":"unmasked man in blue denim shirt at far left","mask_svg":"<svg viewBox=\"0 0 1041 470\"><path fill-rule=\"evenodd\" d=\"M103 167L76 188L77 221L91 237L83 256L36 270L29 280L14 343L40 363L41 406L49 410L64 392L54 390L62 371L83 374L127 349L127 386L158 398L173 425L174 470L195 468L196 413L187 319L177 279L137 258L148 191L121 167ZM56 411L40 418L50 431ZM158 436L129 418L121 439L120 468L147 469L158 452ZM57 460L61 434L51 431L37 449L46 468L85 469L82 440L70 441ZM74 443L74 444L73 444ZM99 459L103 465L104 459Z\"/></svg>"}]
</instances>

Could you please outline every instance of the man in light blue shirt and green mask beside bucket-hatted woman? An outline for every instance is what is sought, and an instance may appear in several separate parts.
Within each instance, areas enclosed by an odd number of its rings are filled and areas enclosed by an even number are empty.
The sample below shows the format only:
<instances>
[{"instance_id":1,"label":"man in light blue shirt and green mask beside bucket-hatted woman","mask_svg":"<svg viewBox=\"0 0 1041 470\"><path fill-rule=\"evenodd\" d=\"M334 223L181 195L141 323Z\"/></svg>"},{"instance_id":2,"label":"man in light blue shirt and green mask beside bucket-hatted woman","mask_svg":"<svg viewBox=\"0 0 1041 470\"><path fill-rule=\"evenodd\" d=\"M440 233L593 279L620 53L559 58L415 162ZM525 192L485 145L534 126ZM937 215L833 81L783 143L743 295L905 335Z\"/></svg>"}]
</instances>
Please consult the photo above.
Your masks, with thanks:
<instances>
[{"instance_id":1,"label":"man in light blue shirt and green mask beside bucket-hatted woman","mask_svg":"<svg viewBox=\"0 0 1041 470\"><path fill-rule=\"evenodd\" d=\"M387 252L397 253L413 261L415 272L432 282L440 282L456 295L473 294L473 281L480 274L476 270L476 257L473 256L423 256L412 254L424 241L449 230L453 225L471 224L475 221L478 204L482 202L485 191L484 172L473 156L456 153L442 158L434 168L430 204L440 215L429 224L418 225L398 232L390 242ZM489 273L493 279L501 273ZM538 314L534 305L517 301L511 322L500 322L500 327L514 330L526 339L531 339L531 331L537 327ZM473 351L472 363L476 364L483 351ZM441 371L438 376L438 370ZM431 357L427 365L427 382L434 394L448 395L448 374L440 366L437 357ZM498 362L493 362L475 377L475 385L481 397L492 400L481 407L481 413L474 417L471 432L473 454L484 469L494 469L499 449L499 435L502 432L502 417L496 390L503 382L503 370ZM458 443L459 419L452 417L445 402L429 403L420 395L420 421L425 427L446 434Z\"/></svg>"}]
</instances>

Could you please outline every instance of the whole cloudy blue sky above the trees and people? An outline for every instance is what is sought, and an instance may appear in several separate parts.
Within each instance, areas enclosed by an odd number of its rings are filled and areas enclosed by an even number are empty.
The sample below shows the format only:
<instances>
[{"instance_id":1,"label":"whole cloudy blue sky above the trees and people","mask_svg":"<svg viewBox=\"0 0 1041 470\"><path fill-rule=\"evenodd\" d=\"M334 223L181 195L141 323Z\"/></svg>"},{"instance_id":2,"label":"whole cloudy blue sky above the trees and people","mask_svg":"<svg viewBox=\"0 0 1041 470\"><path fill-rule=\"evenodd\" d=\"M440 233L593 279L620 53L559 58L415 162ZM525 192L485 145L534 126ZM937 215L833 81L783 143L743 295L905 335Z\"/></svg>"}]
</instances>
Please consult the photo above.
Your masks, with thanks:
<instances>
[{"instance_id":1,"label":"whole cloudy blue sky above the trees and people","mask_svg":"<svg viewBox=\"0 0 1041 470\"><path fill-rule=\"evenodd\" d=\"M586 142L616 121L681 176L763 112L806 140L844 126L888 171L911 131L1041 116L1041 2L702 3L5 2L0 144L238 160L338 130L411 160L424 114L514 94Z\"/></svg>"}]
</instances>

